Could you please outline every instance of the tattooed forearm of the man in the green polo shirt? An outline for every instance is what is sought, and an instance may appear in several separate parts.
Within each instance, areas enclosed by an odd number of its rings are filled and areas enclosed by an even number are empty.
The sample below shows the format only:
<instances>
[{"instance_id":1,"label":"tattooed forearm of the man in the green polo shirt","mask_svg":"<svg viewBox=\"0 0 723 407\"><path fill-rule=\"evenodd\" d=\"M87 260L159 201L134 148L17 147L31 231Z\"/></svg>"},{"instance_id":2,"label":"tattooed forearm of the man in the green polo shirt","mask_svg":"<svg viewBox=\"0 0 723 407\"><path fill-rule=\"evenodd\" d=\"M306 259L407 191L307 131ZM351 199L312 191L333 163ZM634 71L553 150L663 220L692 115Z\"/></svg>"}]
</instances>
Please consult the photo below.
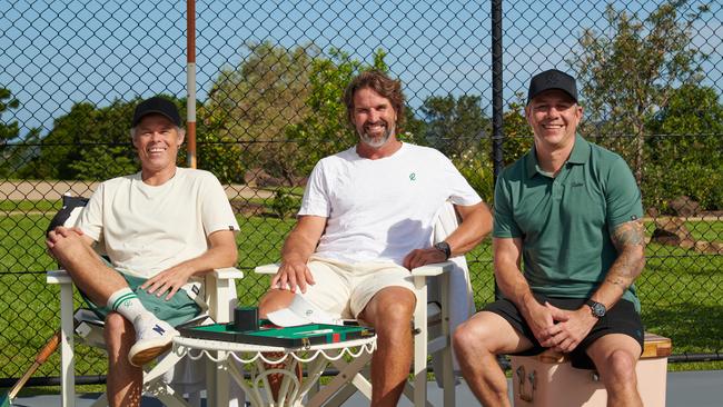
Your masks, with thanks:
<instances>
[{"instance_id":1,"label":"tattooed forearm of the man in the green polo shirt","mask_svg":"<svg viewBox=\"0 0 723 407\"><path fill-rule=\"evenodd\" d=\"M642 220L620 225L611 235L617 249L617 259L607 271L610 284L623 291L630 287L643 271L645 265L645 227Z\"/></svg>"}]
</instances>

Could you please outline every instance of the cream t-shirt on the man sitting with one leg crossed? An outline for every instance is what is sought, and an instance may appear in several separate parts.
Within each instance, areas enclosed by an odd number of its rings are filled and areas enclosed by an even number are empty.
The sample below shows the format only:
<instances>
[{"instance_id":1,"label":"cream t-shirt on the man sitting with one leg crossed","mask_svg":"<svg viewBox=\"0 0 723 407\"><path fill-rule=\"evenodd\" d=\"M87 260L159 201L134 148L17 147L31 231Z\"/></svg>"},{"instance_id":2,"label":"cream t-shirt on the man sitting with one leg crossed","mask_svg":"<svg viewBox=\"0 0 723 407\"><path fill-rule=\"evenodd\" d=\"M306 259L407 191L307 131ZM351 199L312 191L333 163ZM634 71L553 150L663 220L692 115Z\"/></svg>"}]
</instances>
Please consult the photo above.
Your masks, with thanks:
<instances>
[{"instance_id":1,"label":"cream t-shirt on the man sitting with one leg crossed","mask_svg":"<svg viewBox=\"0 0 723 407\"><path fill-rule=\"evenodd\" d=\"M177 168L157 187L145 183L140 172L100 183L77 226L102 245L116 269L143 278L202 255L210 234L239 230L218 179L188 168ZM200 282L184 287L191 298Z\"/></svg>"}]
</instances>

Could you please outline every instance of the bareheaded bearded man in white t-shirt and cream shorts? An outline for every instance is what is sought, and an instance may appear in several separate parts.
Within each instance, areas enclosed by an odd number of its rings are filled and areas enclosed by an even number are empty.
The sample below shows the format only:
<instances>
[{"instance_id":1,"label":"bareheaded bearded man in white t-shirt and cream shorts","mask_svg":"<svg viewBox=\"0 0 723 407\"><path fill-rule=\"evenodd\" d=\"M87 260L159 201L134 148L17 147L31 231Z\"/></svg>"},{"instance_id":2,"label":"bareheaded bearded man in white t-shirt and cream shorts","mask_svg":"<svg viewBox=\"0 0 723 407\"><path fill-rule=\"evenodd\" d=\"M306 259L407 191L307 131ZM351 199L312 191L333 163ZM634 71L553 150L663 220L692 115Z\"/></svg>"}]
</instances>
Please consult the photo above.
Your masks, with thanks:
<instances>
[{"instance_id":1,"label":"bareheaded bearded man in white t-shirt and cream shorts","mask_svg":"<svg viewBox=\"0 0 723 407\"><path fill-rule=\"evenodd\" d=\"M335 317L372 325L372 405L396 406L413 354L409 269L473 249L492 217L444 155L397 139L404 116L398 80L364 72L344 100L359 142L314 168L260 314L287 307L300 291ZM433 246L433 225L447 200L463 221Z\"/></svg>"}]
</instances>

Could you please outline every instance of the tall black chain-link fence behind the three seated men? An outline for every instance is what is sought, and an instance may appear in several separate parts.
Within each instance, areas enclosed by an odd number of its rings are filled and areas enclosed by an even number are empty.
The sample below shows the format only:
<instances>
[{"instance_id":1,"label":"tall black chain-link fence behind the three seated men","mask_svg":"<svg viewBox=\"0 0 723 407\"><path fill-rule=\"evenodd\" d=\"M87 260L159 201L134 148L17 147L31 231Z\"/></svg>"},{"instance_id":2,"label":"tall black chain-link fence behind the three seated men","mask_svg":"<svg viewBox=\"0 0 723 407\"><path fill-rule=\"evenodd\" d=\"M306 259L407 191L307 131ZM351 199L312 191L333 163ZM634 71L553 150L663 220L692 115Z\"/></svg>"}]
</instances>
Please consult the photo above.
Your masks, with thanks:
<instances>
[{"instance_id":1,"label":"tall black chain-link fence behind the three seated men","mask_svg":"<svg viewBox=\"0 0 723 407\"><path fill-rule=\"evenodd\" d=\"M139 98L186 106L185 6L0 3L0 377L20 376L59 326L43 234L61 195L137 171ZM354 72L400 78L405 139L452 157L492 202L493 141L504 135L498 163L531 146L526 85L558 68L578 77L581 132L625 157L643 190L647 328L676 354L723 351L720 2L207 0L196 16L198 166L226 185L242 227L241 304L265 290L251 270L278 259L304 177L354 142L339 102ZM468 255L477 306L494 297L491 256L488 240ZM78 351L78 375L105 373L101 353ZM58 376L57 358L38 376Z\"/></svg>"}]
</instances>

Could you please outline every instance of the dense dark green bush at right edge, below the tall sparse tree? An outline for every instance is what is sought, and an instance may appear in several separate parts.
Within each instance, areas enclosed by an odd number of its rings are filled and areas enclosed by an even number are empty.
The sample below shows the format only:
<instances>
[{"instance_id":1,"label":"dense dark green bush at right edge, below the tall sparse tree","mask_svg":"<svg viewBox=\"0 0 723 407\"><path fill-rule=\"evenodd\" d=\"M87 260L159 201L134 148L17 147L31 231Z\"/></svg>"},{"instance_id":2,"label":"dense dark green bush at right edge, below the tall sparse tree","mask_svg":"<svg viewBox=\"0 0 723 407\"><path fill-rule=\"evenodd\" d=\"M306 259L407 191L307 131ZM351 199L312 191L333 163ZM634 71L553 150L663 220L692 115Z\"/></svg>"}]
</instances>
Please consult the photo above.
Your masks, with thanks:
<instances>
[{"instance_id":1,"label":"dense dark green bush at right edge, below the tall sparse tree","mask_svg":"<svg viewBox=\"0 0 723 407\"><path fill-rule=\"evenodd\" d=\"M665 211L685 195L705 209L723 208L723 105L715 89L683 85L646 127L646 206Z\"/></svg>"}]
</instances>

